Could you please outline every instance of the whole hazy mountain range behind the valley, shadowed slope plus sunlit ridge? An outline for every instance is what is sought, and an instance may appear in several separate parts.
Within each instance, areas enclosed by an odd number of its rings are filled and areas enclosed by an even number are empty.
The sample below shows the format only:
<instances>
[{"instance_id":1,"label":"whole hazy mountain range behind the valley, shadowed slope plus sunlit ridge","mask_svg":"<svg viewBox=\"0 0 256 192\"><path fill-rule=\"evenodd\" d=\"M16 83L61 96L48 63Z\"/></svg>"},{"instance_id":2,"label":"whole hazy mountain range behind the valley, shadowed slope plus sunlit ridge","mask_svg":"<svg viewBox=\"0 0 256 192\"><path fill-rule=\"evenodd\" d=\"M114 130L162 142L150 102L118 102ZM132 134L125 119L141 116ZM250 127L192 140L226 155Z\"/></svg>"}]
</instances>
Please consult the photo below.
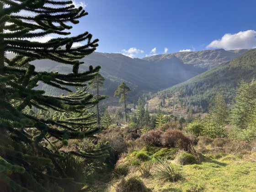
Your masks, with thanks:
<instances>
[{"instance_id":1,"label":"whole hazy mountain range behind the valley, shadowed slope plus sunlit ridge","mask_svg":"<svg viewBox=\"0 0 256 192\"><path fill-rule=\"evenodd\" d=\"M113 98L114 92L121 82L125 82L132 90L128 101L133 103L143 94L155 93L187 81L246 51L247 49L229 51L213 49L161 54L143 59L133 59L120 53L94 52L82 59L85 64L80 65L80 71L87 70L90 65L100 65L100 73L105 77L105 88L101 90L101 94L109 96L108 100L112 102L112 105L116 105L118 100ZM9 58L13 57L12 53L7 55ZM61 73L72 71L72 66L51 60L37 60L32 64L36 66L36 70ZM52 95L63 93L62 90L53 90L43 83L39 85L39 88L43 88Z\"/></svg>"}]
</instances>

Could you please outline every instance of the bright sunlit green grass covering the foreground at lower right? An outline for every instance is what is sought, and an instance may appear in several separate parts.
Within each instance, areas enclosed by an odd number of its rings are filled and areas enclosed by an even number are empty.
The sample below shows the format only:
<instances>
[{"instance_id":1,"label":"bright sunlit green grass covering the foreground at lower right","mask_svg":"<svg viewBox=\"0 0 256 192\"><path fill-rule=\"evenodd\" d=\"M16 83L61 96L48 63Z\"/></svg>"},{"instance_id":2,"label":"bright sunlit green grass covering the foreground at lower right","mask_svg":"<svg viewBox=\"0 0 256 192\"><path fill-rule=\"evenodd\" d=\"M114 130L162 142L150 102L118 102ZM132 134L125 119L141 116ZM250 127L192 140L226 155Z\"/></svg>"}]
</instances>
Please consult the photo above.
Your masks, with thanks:
<instances>
[{"instance_id":1,"label":"bright sunlit green grass covering the foreground at lower right","mask_svg":"<svg viewBox=\"0 0 256 192\"><path fill-rule=\"evenodd\" d=\"M129 154L122 161L124 165L133 165L134 152L138 153L138 151L133 151ZM145 150L141 149L139 152L145 152ZM162 153L161 157L165 158L165 155L167 153ZM134 164L130 167L132 171L125 178L128 179L132 176L137 176L152 192L256 191L256 162L251 162L246 158L234 155L224 155L220 159L213 158L212 156L214 155L204 157L203 162L200 164L183 165L183 179L181 181L161 181L155 178L154 164L151 168L153 176L143 178L136 167L139 167L145 161L157 163L153 158L144 161L137 159L136 165ZM115 184L115 181L112 181L112 186L115 186ZM114 187L108 188L107 191L114 192Z\"/></svg>"}]
</instances>

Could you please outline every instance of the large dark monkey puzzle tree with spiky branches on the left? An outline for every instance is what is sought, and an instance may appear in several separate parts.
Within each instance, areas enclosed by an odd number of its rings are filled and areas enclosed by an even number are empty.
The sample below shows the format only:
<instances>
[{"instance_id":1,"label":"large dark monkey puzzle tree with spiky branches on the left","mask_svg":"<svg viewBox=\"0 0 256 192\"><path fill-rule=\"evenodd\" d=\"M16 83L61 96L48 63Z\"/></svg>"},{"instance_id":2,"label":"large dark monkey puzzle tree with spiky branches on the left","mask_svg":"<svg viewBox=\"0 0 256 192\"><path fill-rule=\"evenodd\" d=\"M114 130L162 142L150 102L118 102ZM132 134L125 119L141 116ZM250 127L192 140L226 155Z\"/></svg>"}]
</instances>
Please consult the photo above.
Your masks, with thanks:
<instances>
[{"instance_id":1,"label":"large dark monkey puzzle tree with spiky branches on the left","mask_svg":"<svg viewBox=\"0 0 256 192\"><path fill-rule=\"evenodd\" d=\"M26 13L26 15L24 15ZM68 96L48 96L36 90L41 82L53 88L70 91L72 86L85 86L94 78L100 67L90 67L79 73L82 59L96 50L98 40L92 40L89 32L75 37L69 35L69 23L77 24L86 16L82 7L75 8L71 0L1 0L0 1L0 183L6 191L78 191L82 184L75 182L65 172L66 157L77 155L94 157L106 155L104 149L97 151L60 152L42 143L90 137L98 128L78 132L68 122L34 117L22 112L25 107L58 112L82 112L86 105L96 105L93 95L78 93ZM62 35L46 43L31 41L46 35ZM73 48L74 43L85 45ZM7 59L6 53L15 53ZM37 71L29 62L51 59L70 64L69 74ZM46 61L47 62L47 61ZM12 101L16 105L12 105ZM106 147L107 148L107 147ZM3 185L4 186L3 186ZM3 188L2 188L3 187Z\"/></svg>"}]
</instances>

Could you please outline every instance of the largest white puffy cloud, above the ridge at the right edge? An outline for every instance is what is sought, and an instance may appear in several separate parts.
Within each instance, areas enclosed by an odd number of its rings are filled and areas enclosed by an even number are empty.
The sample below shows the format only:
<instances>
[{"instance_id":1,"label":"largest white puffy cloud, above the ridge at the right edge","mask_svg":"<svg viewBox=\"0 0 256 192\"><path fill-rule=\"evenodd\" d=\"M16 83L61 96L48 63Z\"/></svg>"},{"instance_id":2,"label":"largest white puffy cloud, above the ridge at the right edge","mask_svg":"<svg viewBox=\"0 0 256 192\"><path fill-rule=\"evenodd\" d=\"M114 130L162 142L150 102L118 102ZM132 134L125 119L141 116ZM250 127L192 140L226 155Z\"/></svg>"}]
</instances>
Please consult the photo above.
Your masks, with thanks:
<instances>
[{"instance_id":1,"label":"largest white puffy cloud, above the ridge at the right edge","mask_svg":"<svg viewBox=\"0 0 256 192\"><path fill-rule=\"evenodd\" d=\"M219 40L214 40L206 48L242 49L256 47L256 31L247 30L235 34L226 33Z\"/></svg>"}]
</instances>

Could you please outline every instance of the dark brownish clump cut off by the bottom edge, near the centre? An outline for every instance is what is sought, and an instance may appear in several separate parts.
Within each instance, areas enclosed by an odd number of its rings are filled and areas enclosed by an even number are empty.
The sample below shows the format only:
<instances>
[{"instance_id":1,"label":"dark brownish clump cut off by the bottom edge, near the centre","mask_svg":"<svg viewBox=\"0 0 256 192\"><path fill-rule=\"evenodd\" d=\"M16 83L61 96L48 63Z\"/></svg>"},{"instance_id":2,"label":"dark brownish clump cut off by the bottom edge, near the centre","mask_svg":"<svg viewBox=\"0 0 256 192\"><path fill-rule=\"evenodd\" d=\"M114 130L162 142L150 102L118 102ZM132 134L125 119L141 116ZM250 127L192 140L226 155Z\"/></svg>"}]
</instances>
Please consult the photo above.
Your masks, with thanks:
<instances>
[{"instance_id":1,"label":"dark brownish clump cut off by the bottom edge, near the centre","mask_svg":"<svg viewBox=\"0 0 256 192\"><path fill-rule=\"evenodd\" d=\"M144 183L137 177L133 176L127 180L122 178L117 184L116 192L148 192Z\"/></svg>"}]
</instances>

